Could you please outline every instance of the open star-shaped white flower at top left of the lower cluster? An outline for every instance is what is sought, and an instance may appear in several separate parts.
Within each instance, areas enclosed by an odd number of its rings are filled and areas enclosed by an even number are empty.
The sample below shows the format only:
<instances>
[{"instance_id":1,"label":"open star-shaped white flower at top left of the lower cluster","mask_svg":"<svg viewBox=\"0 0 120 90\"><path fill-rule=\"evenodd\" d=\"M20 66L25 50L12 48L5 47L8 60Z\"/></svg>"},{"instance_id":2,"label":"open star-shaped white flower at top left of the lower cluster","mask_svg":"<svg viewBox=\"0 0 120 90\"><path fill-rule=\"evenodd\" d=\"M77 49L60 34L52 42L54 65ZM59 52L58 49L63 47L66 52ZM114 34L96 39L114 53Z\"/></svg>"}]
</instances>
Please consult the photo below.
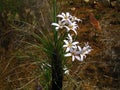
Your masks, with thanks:
<instances>
[{"instance_id":1,"label":"open star-shaped white flower at top left of the lower cluster","mask_svg":"<svg viewBox=\"0 0 120 90\"><path fill-rule=\"evenodd\" d=\"M64 40L65 45L63 45L63 47L66 47L66 52L69 52L71 48L76 48L76 45L77 45L79 42L73 42L73 39L72 39L72 37L71 37L70 34L68 34L67 39L68 39L68 40Z\"/></svg>"}]
</instances>

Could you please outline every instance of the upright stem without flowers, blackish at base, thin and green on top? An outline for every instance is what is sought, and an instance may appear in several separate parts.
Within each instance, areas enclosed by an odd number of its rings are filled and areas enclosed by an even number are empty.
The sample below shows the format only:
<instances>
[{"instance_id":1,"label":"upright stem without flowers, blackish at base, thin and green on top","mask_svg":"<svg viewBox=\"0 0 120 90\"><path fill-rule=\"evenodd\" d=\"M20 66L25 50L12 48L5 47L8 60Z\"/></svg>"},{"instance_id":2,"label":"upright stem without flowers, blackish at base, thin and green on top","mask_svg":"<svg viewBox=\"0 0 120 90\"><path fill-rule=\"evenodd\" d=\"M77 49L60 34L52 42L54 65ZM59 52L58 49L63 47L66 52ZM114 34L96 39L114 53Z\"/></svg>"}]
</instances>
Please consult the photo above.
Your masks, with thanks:
<instances>
[{"instance_id":1,"label":"upright stem without flowers, blackish at base, thin and green on top","mask_svg":"<svg viewBox=\"0 0 120 90\"><path fill-rule=\"evenodd\" d=\"M53 0L53 21L57 22L56 19L56 0ZM54 28L54 45L52 54L52 83L51 90L62 90L62 80L63 80L63 68L62 68L62 58L60 51L58 49L58 32Z\"/></svg>"}]
</instances>

